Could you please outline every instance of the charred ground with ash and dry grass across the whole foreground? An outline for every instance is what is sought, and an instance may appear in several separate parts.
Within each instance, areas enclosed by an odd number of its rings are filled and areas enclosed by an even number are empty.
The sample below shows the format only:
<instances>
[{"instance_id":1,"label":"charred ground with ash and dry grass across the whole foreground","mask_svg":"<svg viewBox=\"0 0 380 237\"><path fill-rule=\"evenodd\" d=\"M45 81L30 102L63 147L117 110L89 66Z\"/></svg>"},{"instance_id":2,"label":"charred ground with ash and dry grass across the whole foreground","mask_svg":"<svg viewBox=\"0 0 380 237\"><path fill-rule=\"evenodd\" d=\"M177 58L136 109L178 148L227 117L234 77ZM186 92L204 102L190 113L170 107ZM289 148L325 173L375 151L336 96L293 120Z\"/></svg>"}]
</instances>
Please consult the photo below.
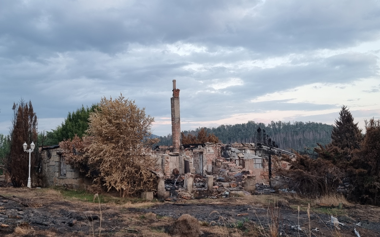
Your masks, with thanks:
<instances>
[{"instance_id":1,"label":"charred ground with ash and dry grass across the whole foreground","mask_svg":"<svg viewBox=\"0 0 380 237\"><path fill-rule=\"evenodd\" d=\"M260 230L263 232L276 221L273 217L277 217L281 236L309 236L306 208L310 200L289 194L109 202L100 205L100 216L98 202L68 199L59 191L49 190L53 189L0 187L2 196L36 203L25 207L0 198L0 236L94 236L99 230L101 236L170 236L166 228L182 214L201 221L204 236L260 236ZM379 207L352 204L341 210L326 209L311 202L310 209L313 236L337 236L330 228L331 214L341 223L340 236L356 236L354 228L361 237L380 236ZM70 226L70 222L74 224ZM221 232L221 227L226 233Z\"/></svg>"}]
</instances>

